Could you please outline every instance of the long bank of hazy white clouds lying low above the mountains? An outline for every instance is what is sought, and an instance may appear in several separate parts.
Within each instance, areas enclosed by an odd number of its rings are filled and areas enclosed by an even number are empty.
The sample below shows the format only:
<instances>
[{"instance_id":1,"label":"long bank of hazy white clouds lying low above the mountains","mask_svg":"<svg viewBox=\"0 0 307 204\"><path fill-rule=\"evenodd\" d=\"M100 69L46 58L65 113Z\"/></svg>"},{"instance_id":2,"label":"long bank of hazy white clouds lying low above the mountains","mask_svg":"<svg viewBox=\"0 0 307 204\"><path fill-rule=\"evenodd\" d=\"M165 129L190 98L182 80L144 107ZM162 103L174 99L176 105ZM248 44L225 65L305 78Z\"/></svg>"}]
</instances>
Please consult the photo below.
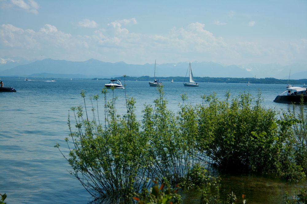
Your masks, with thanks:
<instances>
[{"instance_id":1,"label":"long bank of hazy white clouds lying low above the mountains","mask_svg":"<svg viewBox=\"0 0 307 204\"><path fill-rule=\"evenodd\" d=\"M304 61L307 53L307 39L291 43L260 40L227 42L206 30L205 24L200 22L172 28L166 34L134 33L123 28L136 22L131 19L114 21L91 35L71 35L52 24L45 24L37 30L3 24L0 25L0 57L33 59L35 54L41 56L43 52L44 57L72 61L95 58L138 64L147 63L149 57L154 56L163 62L196 60L243 64L253 60L262 60L263 63L279 62L280 59L285 63Z\"/></svg>"}]
</instances>

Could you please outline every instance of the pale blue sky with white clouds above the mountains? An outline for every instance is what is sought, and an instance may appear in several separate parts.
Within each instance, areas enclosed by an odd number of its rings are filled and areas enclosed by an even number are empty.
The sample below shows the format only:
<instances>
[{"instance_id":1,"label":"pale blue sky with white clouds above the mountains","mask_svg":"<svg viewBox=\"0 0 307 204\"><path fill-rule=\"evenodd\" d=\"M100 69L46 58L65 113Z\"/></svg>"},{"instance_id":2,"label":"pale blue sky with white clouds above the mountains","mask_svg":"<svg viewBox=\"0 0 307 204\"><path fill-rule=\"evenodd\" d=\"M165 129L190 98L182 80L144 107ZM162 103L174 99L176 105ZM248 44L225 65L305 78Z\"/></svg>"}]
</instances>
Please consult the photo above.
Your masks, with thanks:
<instances>
[{"instance_id":1,"label":"pale blue sky with white clouds above the mountains","mask_svg":"<svg viewBox=\"0 0 307 204\"><path fill-rule=\"evenodd\" d=\"M0 58L307 63L307 0L0 0Z\"/></svg>"}]
</instances>

